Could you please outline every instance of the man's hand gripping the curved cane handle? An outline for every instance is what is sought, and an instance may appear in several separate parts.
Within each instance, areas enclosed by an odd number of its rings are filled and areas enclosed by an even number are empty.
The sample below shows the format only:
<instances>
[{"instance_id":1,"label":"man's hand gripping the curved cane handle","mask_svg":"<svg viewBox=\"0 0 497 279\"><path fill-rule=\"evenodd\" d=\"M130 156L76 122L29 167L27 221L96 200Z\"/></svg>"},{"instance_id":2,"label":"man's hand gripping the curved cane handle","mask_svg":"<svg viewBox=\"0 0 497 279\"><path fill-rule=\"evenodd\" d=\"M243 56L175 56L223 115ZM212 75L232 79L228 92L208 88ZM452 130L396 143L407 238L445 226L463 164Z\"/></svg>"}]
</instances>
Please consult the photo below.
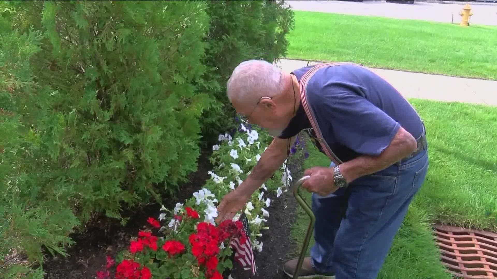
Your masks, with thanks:
<instances>
[{"instance_id":1,"label":"man's hand gripping the curved cane handle","mask_svg":"<svg viewBox=\"0 0 497 279\"><path fill-rule=\"evenodd\" d=\"M310 177L302 183L302 188L309 192L326 197L338 189L334 184L332 168L312 167L304 172L304 176L306 175Z\"/></svg>"}]
</instances>

